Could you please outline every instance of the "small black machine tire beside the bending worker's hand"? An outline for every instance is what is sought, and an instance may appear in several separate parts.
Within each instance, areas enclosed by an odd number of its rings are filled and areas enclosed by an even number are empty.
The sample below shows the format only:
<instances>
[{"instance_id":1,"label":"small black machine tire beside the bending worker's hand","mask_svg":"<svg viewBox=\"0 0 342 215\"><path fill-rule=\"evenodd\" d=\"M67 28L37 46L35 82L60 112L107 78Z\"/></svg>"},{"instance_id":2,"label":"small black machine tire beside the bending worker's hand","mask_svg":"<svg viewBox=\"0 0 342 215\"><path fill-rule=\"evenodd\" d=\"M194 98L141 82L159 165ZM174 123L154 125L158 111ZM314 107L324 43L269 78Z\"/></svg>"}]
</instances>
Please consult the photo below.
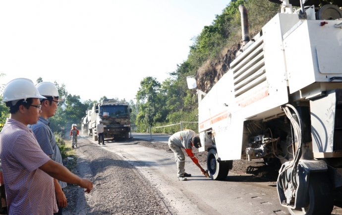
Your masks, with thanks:
<instances>
[{"instance_id":1,"label":"small black machine tire beside the bending worker's hand","mask_svg":"<svg viewBox=\"0 0 342 215\"><path fill-rule=\"evenodd\" d=\"M213 180L224 180L229 172L229 164L224 161L219 163L218 159L219 156L216 149L210 149L207 156L208 174Z\"/></svg>"}]
</instances>

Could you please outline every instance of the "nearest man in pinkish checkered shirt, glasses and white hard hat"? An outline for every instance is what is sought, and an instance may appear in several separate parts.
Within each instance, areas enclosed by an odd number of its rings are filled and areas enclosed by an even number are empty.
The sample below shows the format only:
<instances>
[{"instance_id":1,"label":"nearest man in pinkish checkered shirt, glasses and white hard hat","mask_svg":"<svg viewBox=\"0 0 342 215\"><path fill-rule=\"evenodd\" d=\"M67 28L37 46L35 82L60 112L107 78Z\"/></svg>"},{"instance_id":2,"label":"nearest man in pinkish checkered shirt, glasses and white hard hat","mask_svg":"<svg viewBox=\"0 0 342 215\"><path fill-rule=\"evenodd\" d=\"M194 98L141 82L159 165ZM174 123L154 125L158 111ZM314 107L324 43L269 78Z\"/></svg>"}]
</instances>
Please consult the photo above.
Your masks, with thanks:
<instances>
[{"instance_id":1,"label":"nearest man in pinkish checkered shirt, glasses and white hard hat","mask_svg":"<svg viewBox=\"0 0 342 215\"><path fill-rule=\"evenodd\" d=\"M9 215L57 213L54 178L90 192L93 184L50 159L27 125L36 124L41 96L28 79L14 79L3 91L9 118L0 134L0 155Z\"/></svg>"}]
</instances>

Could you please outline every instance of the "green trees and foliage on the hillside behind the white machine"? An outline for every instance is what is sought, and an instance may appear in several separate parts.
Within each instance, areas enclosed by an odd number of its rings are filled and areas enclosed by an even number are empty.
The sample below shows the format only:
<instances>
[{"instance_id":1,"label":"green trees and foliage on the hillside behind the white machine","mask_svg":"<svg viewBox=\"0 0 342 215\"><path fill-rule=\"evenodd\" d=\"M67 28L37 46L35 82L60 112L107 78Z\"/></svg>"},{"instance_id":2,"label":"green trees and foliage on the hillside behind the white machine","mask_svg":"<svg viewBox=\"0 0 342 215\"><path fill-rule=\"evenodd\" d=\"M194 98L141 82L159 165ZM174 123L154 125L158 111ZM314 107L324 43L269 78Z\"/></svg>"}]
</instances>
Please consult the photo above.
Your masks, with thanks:
<instances>
[{"instance_id":1,"label":"green trees and foliage on the hillside behind the white machine","mask_svg":"<svg viewBox=\"0 0 342 215\"><path fill-rule=\"evenodd\" d=\"M138 130L146 131L149 124L153 127L176 124L179 122L197 122L198 109L195 90L187 89L186 76L195 74L210 60L223 57L223 49L233 43L239 43L241 22L238 7L243 4L249 15L250 35L256 35L279 10L278 4L265 0L232 0L216 15L209 26L192 38L188 58L177 64L170 78L160 84L153 77L146 77L140 83L136 94L138 114L136 124ZM206 77L206 80L210 77ZM182 123L183 129L198 131L196 123ZM173 133L180 126L153 129L153 132Z\"/></svg>"}]
</instances>

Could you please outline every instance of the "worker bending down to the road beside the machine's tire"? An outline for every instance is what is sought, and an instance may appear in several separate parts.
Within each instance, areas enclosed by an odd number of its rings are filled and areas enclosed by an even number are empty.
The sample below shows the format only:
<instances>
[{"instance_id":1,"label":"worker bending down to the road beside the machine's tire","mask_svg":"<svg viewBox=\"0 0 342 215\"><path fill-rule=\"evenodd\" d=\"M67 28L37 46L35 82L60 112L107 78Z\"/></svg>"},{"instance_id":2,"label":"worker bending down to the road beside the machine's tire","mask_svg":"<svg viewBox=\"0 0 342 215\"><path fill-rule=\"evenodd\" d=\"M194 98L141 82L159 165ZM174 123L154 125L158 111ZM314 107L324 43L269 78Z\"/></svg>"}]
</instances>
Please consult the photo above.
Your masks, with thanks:
<instances>
[{"instance_id":1,"label":"worker bending down to the road beside the machine's tire","mask_svg":"<svg viewBox=\"0 0 342 215\"><path fill-rule=\"evenodd\" d=\"M182 148L185 149L185 152L191 158L191 160L196 164L196 166L201 170L202 174L205 175L205 170L198 163L198 159L192 153L192 146L196 148L201 147L201 139L199 136L196 136L195 131L193 130L183 130L174 133L169 138L169 147L174 153L174 158L177 163L177 179L181 181L186 181L186 177L190 177L191 174L185 172L185 156L182 151Z\"/></svg>"}]
</instances>

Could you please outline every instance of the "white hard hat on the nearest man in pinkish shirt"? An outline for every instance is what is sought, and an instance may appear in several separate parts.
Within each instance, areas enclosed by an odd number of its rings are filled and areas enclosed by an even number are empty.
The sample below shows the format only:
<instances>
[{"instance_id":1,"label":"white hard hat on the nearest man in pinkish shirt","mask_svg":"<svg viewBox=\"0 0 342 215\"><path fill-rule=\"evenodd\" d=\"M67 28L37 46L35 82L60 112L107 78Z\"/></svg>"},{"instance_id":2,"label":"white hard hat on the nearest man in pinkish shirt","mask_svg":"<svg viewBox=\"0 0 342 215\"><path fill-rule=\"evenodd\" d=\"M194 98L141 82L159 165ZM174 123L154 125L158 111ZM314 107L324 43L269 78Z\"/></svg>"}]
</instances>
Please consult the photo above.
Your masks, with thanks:
<instances>
[{"instance_id":1,"label":"white hard hat on the nearest man in pinkish shirt","mask_svg":"<svg viewBox=\"0 0 342 215\"><path fill-rule=\"evenodd\" d=\"M3 89L2 102L12 101L15 105L17 101L27 98L46 98L39 94L39 91L30 79L19 78L8 82Z\"/></svg>"}]
</instances>

